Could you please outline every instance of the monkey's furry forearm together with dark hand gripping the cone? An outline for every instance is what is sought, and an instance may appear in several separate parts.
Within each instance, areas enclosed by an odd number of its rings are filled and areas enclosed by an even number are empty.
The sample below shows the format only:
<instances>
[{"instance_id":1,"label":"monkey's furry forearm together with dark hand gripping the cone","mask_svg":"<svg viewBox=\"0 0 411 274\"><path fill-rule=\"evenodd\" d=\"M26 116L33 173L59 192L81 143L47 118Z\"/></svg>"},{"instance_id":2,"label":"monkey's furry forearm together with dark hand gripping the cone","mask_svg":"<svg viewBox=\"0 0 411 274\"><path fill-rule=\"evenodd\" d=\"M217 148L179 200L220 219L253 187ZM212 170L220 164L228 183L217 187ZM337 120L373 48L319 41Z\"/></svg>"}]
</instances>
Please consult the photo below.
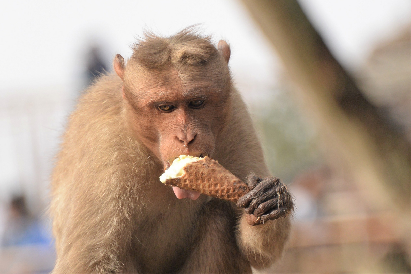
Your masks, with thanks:
<instances>
[{"instance_id":1,"label":"monkey's furry forearm together with dark hand gripping the cone","mask_svg":"<svg viewBox=\"0 0 411 274\"><path fill-rule=\"evenodd\" d=\"M253 267L267 267L281 256L288 240L294 203L278 178L249 176L247 184L251 191L237 202L245 208L239 222L238 243ZM247 222L250 216L258 218L253 220L257 225Z\"/></svg>"}]
</instances>

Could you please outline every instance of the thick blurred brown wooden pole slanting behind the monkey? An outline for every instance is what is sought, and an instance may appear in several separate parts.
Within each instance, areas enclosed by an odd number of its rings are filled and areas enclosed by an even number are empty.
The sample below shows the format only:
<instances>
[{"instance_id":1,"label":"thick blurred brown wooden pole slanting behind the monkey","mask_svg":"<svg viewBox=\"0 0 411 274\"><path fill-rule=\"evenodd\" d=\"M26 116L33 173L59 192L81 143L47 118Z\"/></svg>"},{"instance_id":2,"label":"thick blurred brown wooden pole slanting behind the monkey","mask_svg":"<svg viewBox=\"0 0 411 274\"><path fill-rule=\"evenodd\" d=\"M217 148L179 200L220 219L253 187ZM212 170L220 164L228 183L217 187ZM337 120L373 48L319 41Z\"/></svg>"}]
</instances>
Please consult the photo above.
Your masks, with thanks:
<instances>
[{"instance_id":1,"label":"thick blurred brown wooden pole slanting behind the monkey","mask_svg":"<svg viewBox=\"0 0 411 274\"><path fill-rule=\"evenodd\" d=\"M277 50L327 151L348 167L372 207L396 209L409 220L411 149L406 137L363 96L296 0L242 2Z\"/></svg>"}]
</instances>

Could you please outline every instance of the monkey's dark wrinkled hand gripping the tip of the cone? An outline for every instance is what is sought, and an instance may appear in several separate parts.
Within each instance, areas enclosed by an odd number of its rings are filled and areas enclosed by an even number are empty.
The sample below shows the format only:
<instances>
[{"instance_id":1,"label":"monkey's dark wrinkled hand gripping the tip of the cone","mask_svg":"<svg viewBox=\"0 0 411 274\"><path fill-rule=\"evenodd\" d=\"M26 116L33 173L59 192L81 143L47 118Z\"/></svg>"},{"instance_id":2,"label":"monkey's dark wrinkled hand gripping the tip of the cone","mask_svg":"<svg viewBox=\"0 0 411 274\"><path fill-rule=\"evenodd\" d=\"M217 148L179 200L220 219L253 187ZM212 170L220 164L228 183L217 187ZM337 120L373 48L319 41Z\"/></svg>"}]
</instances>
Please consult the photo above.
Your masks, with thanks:
<instances>
[{"instance_id":1,"label":"monkey's dark wrinkled hand gripping the tip of the cone","mask_svg":"<svg viewBox=\"0 0 411 274\"><path fill-rule=\"evenodd\" d=\"M247 185L250 191L238 199L237 206L245 208L249 224L286 217L294 209L293 198L279 178L252 175Z\"/></svg>"}]
</instances>

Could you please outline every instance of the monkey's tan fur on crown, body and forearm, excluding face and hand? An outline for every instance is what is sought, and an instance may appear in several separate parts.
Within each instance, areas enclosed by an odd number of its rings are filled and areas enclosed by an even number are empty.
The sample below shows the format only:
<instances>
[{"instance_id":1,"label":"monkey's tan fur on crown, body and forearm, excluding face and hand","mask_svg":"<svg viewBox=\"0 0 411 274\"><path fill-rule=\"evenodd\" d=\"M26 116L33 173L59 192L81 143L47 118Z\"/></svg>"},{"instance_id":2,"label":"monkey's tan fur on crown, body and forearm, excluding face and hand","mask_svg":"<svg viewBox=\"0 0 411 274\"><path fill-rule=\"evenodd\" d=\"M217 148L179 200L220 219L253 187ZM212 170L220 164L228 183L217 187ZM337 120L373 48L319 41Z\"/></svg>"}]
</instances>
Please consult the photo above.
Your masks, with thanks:
<instances>
[{"instance_id":1,"label":"monkey's tan fur on crown, body and forearm, excluding face and hand","mask_svg":"<svg viewBox=\"0 0 411 274\"><path fill-rule=\"evenodd\" d=\"M211 76L202 77L207 64ZM205 79L227 93L224 119L213 125L212 157L242 179L270 175L245 104L210 37L189 30L173 37L147 34L125 69L126 98L123 81L104 75L69 118L51 183L53 273L250 273L250 265L266 267L281 255L288 217L249 226L231 203L203 195L177 199L159 182L164 159L136 137L125 102L136 96L127 95L136 79L164 76L170 68L183 83Z\"/></svg>"}]
</instances>

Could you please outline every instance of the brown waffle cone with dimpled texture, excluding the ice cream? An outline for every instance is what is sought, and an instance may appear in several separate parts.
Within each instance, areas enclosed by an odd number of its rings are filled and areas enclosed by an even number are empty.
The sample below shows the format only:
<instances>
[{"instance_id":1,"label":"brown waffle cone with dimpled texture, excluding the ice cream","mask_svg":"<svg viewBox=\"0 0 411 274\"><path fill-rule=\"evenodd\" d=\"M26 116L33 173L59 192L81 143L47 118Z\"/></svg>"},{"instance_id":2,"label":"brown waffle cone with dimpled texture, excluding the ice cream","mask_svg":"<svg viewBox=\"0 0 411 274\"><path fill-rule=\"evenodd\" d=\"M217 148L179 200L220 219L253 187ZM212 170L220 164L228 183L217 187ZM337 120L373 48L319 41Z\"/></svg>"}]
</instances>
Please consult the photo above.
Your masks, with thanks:
<instances>
[{"instance_id":1,"label":"brown waffle cone with dimpled texture, excluding the ice cream","mask_svg":"<svg viewBox=\"0 0 411 274\"><path fill-rule=\"evenodd\" d=\"M195 190L234 203L249 192L242 180L208 156L186 164L184 174L179 178L166 180L166 185Z\"/></svg>"}]
</instances>

